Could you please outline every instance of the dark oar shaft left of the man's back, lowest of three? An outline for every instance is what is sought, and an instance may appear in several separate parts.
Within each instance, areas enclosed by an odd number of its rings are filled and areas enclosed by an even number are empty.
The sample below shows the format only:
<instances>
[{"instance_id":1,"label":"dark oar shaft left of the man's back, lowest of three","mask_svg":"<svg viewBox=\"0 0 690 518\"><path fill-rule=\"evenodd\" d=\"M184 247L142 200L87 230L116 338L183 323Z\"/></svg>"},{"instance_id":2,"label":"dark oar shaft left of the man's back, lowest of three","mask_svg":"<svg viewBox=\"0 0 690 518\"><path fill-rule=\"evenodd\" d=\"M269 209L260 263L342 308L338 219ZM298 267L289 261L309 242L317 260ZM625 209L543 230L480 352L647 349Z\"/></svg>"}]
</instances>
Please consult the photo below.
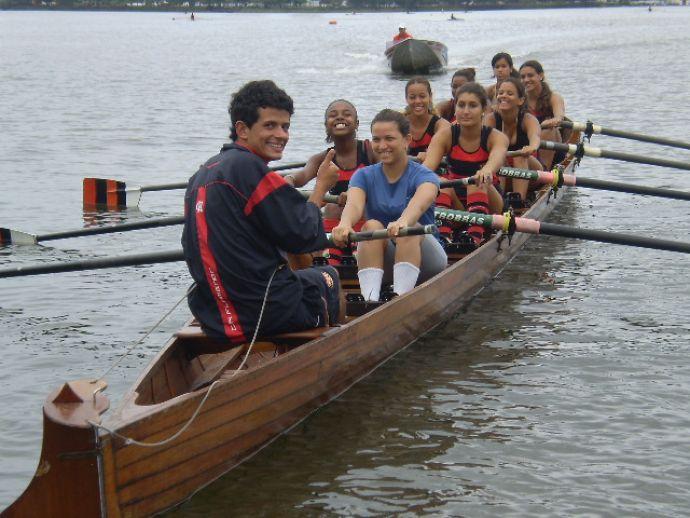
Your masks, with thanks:
<instances>
[{"instance_id":1,"label":"dark oar shaft left of the man's back, lowest of three","mask_svg":"<svg viewBox=\"0 0 690 518\"><path fill-rule=\"evenodd\" d=\"M81 270L98 270L102 268L120 268L123 266L138 266L142 264L171 263L182 261L183 259L182 250L172 250L152 254L85 259L83 261L69 261L57 264L17 266L15 268L0 270L0 278L23 277L26 275L41 275L45 273L76 272Z\"/></svg>"}]
</instances>

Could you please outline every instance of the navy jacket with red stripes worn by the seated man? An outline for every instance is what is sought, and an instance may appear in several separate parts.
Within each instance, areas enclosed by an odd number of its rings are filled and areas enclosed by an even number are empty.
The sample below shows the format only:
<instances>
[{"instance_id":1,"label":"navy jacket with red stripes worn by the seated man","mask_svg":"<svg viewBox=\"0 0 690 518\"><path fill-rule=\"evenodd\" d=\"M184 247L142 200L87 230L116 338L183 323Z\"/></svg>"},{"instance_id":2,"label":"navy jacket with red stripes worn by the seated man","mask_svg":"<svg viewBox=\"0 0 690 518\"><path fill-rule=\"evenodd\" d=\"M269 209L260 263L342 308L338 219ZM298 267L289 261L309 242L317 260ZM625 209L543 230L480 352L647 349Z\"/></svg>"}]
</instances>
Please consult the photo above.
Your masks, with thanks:
<instances>
[{"instance_id":1,"label":"navy jacket with red stripes worn by the seated man","mask_svg":"<svg viewBox=\"0 0 690 518\"><path fill-rule=\"evenodd\" d=\"M189 180L182 248L197 286L188 301L210 335L251 340L276 268L259 334L284 330L302 285L281 251L327 246L319 208L247 148L224 145Z\"/></svg>"}]
</instances>

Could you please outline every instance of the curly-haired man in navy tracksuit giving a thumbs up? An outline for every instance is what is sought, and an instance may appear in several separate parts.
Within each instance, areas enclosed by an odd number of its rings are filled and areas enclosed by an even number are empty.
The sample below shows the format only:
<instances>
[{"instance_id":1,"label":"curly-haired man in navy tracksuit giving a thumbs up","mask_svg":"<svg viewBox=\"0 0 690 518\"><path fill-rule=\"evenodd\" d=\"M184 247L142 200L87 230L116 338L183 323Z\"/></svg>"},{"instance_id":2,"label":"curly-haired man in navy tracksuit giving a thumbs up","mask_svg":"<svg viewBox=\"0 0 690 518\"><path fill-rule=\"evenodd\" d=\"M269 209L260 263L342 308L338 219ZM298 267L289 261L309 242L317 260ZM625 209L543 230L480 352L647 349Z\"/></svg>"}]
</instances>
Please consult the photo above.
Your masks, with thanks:
<instances>
[{"instance_id":1,"label":"curly-haired man in navy tracksuit giving a thumbs up","mask_svg":"<svg viewBox=\"0 0 690 518\"><path fill-rule=\"evenodd\" d=\"M330 158L309 201L267 164L288 141L292 99L252 81L228 109L232 143L192 176L182 246L196 288L189 307L211 336L234 343L337 322L339 280L329 266L292 271L285 252L328 246L319 205L337 180ZM263 314L260 317L260 314ZM259 320L260 319L260 320Z\"/></svg>"}]
</instances>

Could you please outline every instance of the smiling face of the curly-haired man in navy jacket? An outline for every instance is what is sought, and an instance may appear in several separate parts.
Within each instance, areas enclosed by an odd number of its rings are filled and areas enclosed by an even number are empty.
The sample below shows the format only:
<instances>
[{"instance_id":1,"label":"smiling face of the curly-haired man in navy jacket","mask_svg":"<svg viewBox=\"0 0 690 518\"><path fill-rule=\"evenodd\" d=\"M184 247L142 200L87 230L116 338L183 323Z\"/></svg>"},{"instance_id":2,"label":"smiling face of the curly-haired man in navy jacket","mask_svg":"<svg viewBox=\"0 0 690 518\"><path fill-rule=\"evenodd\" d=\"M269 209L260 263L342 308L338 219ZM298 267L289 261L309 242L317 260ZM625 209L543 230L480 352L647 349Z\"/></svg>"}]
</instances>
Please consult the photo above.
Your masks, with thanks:
<instances>
[{"instance_id":1,"label":"smiling face of the curly-haired man in navy jacket","mask_svg":"<svg viewBox=\"0 0 690 518\"><path fill-rule=\"evenodd\" d=\"M259 108L259 120L251 128L238 121L235 129L239 144L247 146L267 162L280 160L290 138L290 113L277 108Z\"/></svg>"}]
</instances>

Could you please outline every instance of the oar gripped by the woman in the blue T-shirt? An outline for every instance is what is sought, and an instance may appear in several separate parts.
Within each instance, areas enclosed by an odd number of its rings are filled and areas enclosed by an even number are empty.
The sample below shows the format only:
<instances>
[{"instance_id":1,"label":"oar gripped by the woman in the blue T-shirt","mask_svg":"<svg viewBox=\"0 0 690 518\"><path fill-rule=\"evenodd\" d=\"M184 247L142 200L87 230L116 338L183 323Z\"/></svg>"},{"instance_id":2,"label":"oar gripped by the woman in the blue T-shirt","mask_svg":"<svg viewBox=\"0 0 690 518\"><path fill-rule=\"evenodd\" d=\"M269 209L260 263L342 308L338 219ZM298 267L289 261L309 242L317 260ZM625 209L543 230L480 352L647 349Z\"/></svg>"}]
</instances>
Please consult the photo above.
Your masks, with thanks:
<instances>
[{"instance_id":1,"label":"oar gripped by the woman in the blue T-shirt","mask_svg":"<svg viewBox=\"0 0 690 518\"><path fill-rule=\"evenodd\" d=\"M405 227L400 229L400 236L416 236L436 232L435 225L422 227ZM386 230L370 230L367 232L351 232L350 241L371 241L372 239L385 239L388 237ZM330 239L330 238L329 238ZM331 241L331 244L332 241ZM183 261L182 250L169 250L167 252L155 252L151 254L125 255L119 257L103 257L99 259L85 259L82 261L67 261L53 264L37 264L29 266L16 266L0 270L0 278L24 277L28 275L42 275L46 273L76 272L82 270L100 270L104 268L120 268L124 266L139 266L143 264L172 263Z\"/></svg>"}]
</instances>

